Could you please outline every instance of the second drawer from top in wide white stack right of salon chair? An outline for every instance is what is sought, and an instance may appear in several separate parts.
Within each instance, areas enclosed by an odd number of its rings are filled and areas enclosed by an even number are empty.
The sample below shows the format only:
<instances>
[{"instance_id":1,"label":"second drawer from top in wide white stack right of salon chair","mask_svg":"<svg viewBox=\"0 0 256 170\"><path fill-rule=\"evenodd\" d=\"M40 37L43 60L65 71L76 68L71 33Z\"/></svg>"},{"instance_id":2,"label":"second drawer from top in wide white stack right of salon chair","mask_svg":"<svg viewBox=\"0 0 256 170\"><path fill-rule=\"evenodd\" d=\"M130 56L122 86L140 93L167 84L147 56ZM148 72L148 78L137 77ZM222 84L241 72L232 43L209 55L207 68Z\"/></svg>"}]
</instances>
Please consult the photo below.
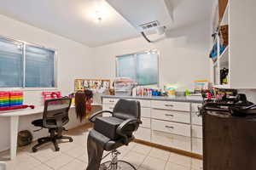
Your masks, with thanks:
<instances>
[{"instance_id":1,"label":"second drawer from top in wide white stack right of salon chair","mask_svg":"<svg viewBox=\"0 0 256 170\"><path fill-rule=\"evenodd\" d=\"M151 117L164 121L190 123L190 112L152 109Z\"/></svg>"}]
</instances>

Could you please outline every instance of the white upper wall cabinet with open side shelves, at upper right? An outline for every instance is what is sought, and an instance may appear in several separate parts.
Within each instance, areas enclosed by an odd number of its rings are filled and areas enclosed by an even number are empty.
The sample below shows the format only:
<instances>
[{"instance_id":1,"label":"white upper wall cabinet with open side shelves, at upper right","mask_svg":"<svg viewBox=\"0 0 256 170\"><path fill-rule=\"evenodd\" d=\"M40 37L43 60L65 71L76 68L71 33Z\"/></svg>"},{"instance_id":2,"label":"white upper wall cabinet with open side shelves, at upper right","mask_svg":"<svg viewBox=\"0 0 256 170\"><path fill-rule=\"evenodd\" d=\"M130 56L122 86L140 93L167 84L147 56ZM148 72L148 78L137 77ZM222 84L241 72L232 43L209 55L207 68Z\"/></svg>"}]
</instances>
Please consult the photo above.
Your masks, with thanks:
<instances>
[{"instance_id":1,"label":"white upper wall cabinet with open side shelves, at upper right","mask_svg":"<svg viewBox=\"0 0 256 170\"><path fill-rule=\"evenodd\" d=\"M256 22L253 17L256 14L255 6L256 1L253 0L229 0L220 24L229 26L229 46L223 54L219 54L216 63L212 63L212 70L217 67L213 82L218 88L256 88L256 79L251 78L256 76ZM229 69L227 85L220 83L220 70L223 68Z\"/></svg>"}]
</instances>

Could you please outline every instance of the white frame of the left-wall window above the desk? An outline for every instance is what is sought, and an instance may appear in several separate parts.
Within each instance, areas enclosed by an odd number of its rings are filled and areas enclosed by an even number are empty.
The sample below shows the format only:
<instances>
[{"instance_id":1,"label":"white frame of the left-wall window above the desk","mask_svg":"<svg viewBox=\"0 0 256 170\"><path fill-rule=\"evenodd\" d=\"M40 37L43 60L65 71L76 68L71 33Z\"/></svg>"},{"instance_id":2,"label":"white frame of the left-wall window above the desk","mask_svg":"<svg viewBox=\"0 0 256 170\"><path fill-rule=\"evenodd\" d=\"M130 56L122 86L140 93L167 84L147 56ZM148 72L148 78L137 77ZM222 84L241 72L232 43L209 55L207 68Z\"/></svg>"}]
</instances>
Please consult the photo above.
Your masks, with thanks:
<instances>
[{"instance_id":1,"label":"white frame of the left-wall window above the desk","mask_svg":"<svg viewBox=\"0 0 256 170\"><path fill-rule=\"evenodd\" d=\"M5 36L1 36L1 39L10 41L10 42L19 42L22 43L23 46L23 53L22 53L22 59L23 59L23 84L22 87L17 87L17 88L1 88L1 91L5 91L5 90L25 90L25 91L36 91L36 90L44 90L44 89L49 89L49 90L54 90L54 89L58 89L58 77L57 77L57 71L58 71L58 57L57 57L57 50L54 48L47 48L45 46L42 45L38 45L37 43L32 43L32 42L25 42L25 41L21 41L12 37L5 37ZM36 48L44 48L50 51L54 51L54 87L38 87L38 88L27 88L26 87L26 46L32 46L32 47L36 47Z\"/></svg>"}]
</instances>

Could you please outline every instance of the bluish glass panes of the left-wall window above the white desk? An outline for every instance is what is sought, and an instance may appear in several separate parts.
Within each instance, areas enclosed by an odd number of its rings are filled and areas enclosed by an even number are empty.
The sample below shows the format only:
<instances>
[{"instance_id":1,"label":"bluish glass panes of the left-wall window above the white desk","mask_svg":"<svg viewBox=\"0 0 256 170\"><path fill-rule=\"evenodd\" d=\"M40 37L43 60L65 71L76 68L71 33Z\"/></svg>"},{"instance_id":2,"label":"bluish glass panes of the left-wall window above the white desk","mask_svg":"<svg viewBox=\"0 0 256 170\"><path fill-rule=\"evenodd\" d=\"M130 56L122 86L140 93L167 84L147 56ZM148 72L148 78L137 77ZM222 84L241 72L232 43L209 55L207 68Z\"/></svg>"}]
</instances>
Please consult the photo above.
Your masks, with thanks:
<instances>
[{"instance_id":1,"label":"bluish glass panes of the left-wall window above the white desk","mask_svg":"<svg viewBox=\"0 0 256 170\"><path fill-rule=\"evenodd\" d=\"M0 37L0 88L54 88L55 51Z\"/></svg>"}]
</instances>

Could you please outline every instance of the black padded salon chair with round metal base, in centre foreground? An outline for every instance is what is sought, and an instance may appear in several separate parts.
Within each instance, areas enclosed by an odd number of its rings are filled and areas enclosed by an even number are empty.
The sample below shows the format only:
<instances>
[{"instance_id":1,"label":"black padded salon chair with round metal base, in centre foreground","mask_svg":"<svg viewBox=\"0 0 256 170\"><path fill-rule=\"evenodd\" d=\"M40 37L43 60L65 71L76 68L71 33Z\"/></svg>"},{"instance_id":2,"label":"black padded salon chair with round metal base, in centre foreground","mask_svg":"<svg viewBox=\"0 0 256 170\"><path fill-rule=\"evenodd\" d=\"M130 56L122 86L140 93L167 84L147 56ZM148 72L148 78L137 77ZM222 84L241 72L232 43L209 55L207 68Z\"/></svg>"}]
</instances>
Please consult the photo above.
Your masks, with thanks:
<instances>
[{"instance_id":1,"label":"black padded salon chair with round metal base, in centre foreground","mask_svg":"<svg viewBox=\"0 0 256 170\"><path fill-rule=\"evenodd\" d=\"M103 112L111 113L112 116L98 116ZM117 150L120 146L128 145L134 138L133 133L141 124L141 106L138 101L119 99L112 111L99 111L89 118L95 126L90 130L87 142L89 163L87 170L120 170L136 169L127 161L119 161ZM111 161L101 164L107 157L103 156L103 151L110 151Z\"/></svg>"}]
</instances>

